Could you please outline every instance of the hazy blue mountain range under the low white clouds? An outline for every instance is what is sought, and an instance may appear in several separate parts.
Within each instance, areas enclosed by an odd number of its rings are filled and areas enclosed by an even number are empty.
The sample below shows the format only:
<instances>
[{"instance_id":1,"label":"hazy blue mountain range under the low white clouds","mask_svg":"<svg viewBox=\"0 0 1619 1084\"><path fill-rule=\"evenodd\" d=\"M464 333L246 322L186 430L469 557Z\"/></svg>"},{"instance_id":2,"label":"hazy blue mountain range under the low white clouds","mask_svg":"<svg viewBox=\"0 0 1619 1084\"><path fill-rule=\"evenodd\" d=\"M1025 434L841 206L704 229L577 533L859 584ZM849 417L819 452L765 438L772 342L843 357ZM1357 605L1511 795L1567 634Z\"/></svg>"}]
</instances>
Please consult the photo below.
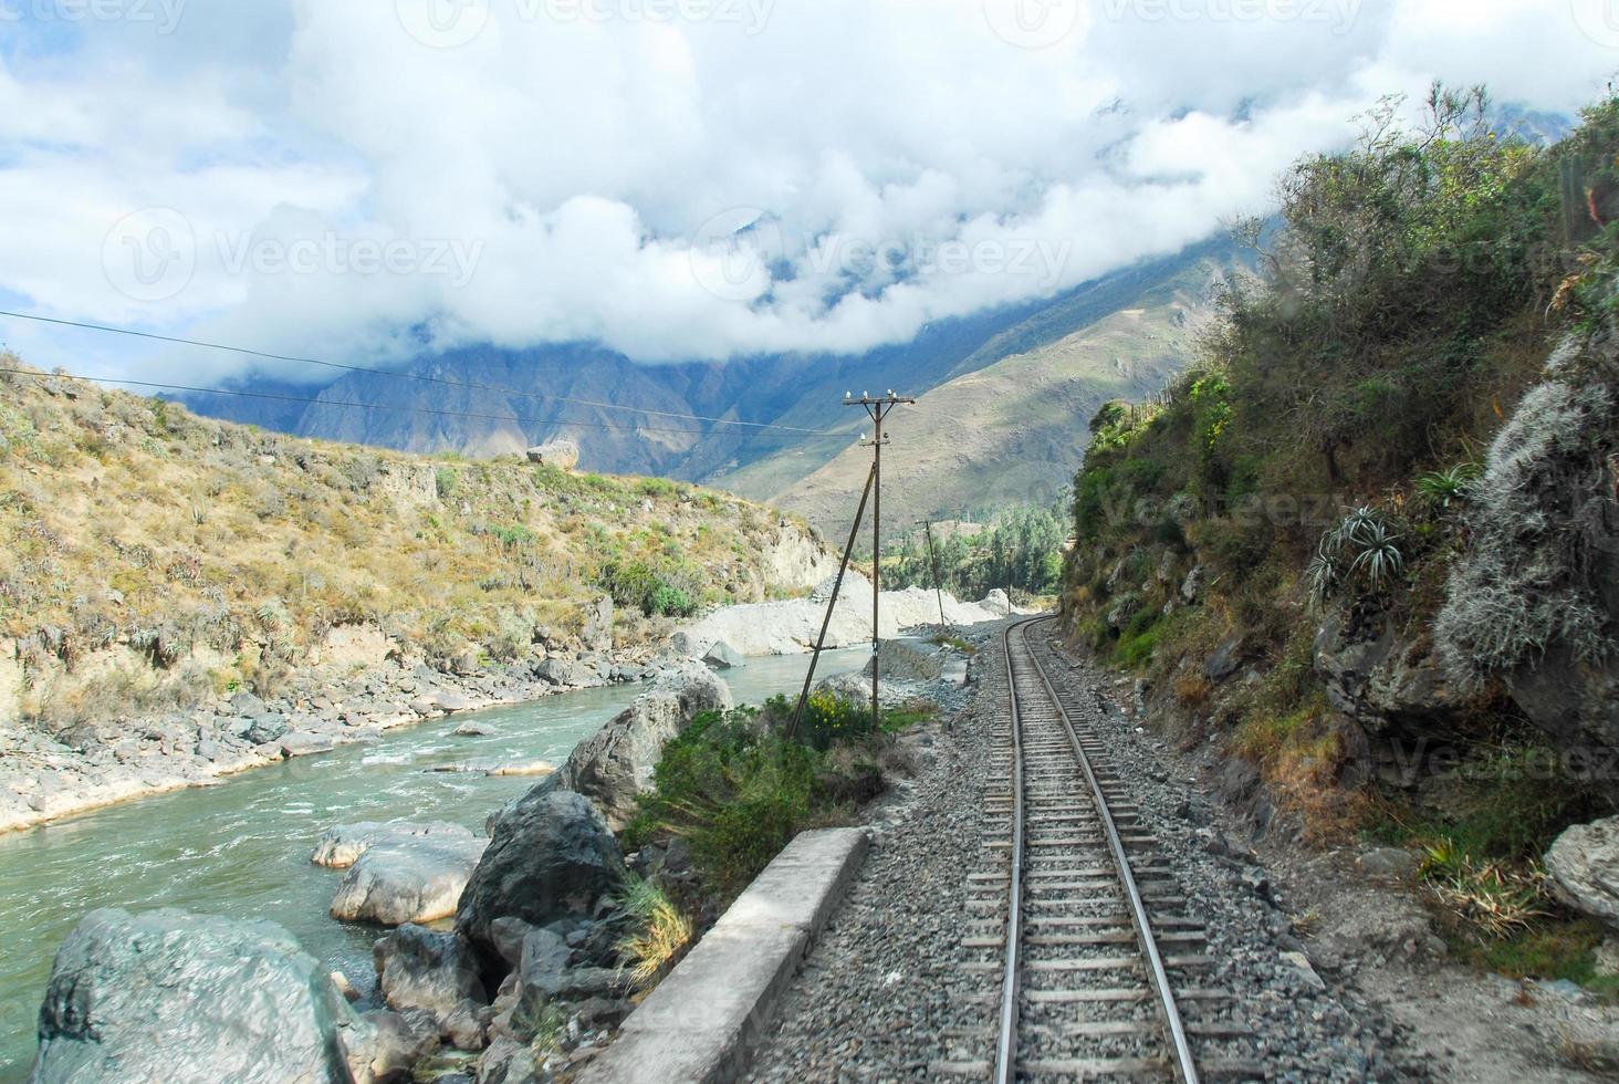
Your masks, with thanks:
<instances>
[{"instance_id":1,"label":"hazy blue mountain range under the low white clouds","mask_svg":"<svg viewBox=\"0 0 1619 1084\"><path fill-rule=\"evenodd\" d=\"M1149 339L1120 345L1115 353L1132 360L1127 373L1090 361L1073 369L1062 360L1072 350L1043 352L1115 313L1153 309L1143 297L1211 259L1229 262L1229 248L1227 241L1209 241L1057 298L939 321L908 344L863 355L638 365L584 344L526 350L484 345L418 358L398 371L350 373L317 392L298 392L306 399L312 395L312 403L274 399L298 395L282 384L261 381L249 381L241 390L270 399L193 395L186 402L212 416L414 454L492 457L568 437L580 444L588 470L706 481L750 497L785 494L790 501L803 499L810 509L831 501L837 486L831 476L803 491L797 486L843 455L866 421L863 413L843 407L847 390L894 387L926 395L1013 358L1025 358L1022 376L1005 376L1018 371L1012 366L999 379L1028 381L1043 363L1054 363L1064 366L1062 394L1041 407L1052 434L1065 426L1083 431L1086 412L1099 399L1154 390L1154 381L1172 371L1171 355L1182 340L1141 365L1133 360L1151 353ZM1154 319L1127 321L1119 334L1128 339L1132 326L1141 335L1162 334ZM1098 381L1094 389L1080 387L1093 378ZM954 402L968 412L973 429L1013 434L1002 449L1005 454L1049 454L1056 465L1056 457L1072 452L1072 441L1017 437L1017 418L1010 413L996 413L994 421L971 415L976 407L962 399L962 389L939 402ZM712 421L665 415L698 415ZM727 421L785 428L724 425ZM991 452L986 444L973 449ZM1072 473L1072 457L1065 467L1039 476L1054 481ZM929 509L960 502L963 491L944 493L947 481L937 484L941 494Z\"/></svg>"}]
</instances>

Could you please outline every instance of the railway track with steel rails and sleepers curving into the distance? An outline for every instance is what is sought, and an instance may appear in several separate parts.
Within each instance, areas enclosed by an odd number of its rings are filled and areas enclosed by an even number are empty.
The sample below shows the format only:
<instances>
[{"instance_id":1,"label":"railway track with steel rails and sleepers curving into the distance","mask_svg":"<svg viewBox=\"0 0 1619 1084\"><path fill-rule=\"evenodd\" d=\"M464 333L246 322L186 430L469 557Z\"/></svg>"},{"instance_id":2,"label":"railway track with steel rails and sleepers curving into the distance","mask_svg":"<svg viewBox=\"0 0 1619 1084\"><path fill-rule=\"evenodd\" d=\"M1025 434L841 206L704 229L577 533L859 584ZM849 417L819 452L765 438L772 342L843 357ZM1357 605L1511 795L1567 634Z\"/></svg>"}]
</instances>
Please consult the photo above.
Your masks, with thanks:
<instances>
[{"instance_id":1,"label":"railway track with steel rails and sleepers curving into the distance","mask_svg":"<svg viewBox=\"0 0 1619 1084\"><path fill-rule=\"evenodd\" d=\"M968 873L962 946L994 1016L949 1037L983 1056L933 1069L997 1084L1261 1078L1242 1056L1251 1032L1230 1019L1232 995L1203 985L1216 964L1205 927L1086 726L1094 694L1052 682L1051 647L1035 635L1047 621L1004 634L1012 710Z\"/></svg>"}]
</instances>

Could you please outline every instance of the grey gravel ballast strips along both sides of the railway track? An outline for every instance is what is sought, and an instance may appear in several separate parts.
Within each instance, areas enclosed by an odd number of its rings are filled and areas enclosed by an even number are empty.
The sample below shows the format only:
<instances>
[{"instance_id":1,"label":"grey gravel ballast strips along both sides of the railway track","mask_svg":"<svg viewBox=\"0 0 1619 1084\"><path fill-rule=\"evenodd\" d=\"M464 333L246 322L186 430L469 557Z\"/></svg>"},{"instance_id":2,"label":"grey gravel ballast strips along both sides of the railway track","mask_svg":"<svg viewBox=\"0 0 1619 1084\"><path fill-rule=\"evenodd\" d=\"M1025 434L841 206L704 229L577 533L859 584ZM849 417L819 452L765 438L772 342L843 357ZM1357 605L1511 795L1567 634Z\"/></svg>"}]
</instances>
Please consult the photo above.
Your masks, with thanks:
<instances>
[{"instance_id":1,"label":"grey gravel ballast strips along both sides of the railway track","mask_svg":"<svg viewBox=\"0 0 1619 1084\"><path fill-rule=\"evenodd\" d=\"M979 635L970 703L911 739L923 753L918 776L876 810L873 854L784 998L750 1079L933 1079L941 1063L981 1056L997 1005L983 975L963 967L962 930L984 831L989 732L1007 690L999 632ZM1253 1031L1242 1053L1279 1081L1420 1079L1391 1056L1394 1031L1310 969L1264 870L1195 796L1190 773L1099 694L1083 664L1044 651L1041 659L1062 692L1078 694L1064 697L1075 723L1106 742L1161 841L1154 857L1183 888L1185 914L1206 924L1216 964L1198 985L1234 995L1230 1021Z\"/></svg>"}]
</instances>

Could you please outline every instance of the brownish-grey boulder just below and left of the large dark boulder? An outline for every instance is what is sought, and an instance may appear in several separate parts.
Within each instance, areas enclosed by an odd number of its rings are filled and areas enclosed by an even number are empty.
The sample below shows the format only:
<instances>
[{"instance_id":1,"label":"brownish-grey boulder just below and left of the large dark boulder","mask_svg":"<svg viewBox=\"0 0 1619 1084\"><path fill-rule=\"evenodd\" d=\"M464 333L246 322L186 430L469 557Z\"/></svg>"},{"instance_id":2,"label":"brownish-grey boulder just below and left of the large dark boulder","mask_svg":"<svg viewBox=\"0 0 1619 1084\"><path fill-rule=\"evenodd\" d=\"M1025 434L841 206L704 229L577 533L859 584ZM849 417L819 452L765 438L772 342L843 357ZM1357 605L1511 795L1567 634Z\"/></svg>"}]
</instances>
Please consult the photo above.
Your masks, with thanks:
<instances>
[{"instance_id":1,"label":"brownish-grey boulder just below and left of the large dark boulder","mask_svg":"<svg viewBox=\"0 0 1619 1084\"><path fill-rule=\"evenodd\" d=\"M395 1011L432 1014L439 1034L460 1050L481 1050L478 1011L489 1003L478 959L458 933L402 925L372 948L377 987Z\"/></svg>"}]
</instances>

